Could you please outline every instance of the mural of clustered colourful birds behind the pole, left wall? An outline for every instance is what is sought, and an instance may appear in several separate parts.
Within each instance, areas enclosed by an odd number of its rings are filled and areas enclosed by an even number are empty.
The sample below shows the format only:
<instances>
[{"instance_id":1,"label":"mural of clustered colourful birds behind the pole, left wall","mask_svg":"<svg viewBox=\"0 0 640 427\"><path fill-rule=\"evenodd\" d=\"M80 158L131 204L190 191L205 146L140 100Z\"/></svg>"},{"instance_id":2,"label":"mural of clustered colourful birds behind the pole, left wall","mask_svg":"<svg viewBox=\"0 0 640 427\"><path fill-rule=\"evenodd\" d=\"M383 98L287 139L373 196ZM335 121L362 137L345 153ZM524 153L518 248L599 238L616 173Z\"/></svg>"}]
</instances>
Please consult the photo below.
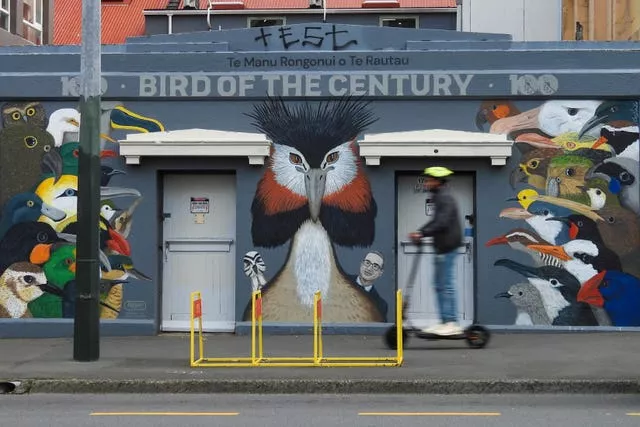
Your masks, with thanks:
<instances>
[{"instance_id":1,"label":"mural of clustered colourful birds behind the pole, left wall","mask_svg":"<svg viewBox=\"0 0 640 427\"><path fill-rule=\"evenodd\" d=\"M73 318L80 113L62 108L47 116L37 101L0 108L0 318ZM120 103L105 102L101 119L101 159L118 156L112 129L164 130ZM118 317L130 277L150 280L135 269L127 241L142 195L110 186L118 174L101 167L101 318ZM122 197L134 201L115 202Z\"/></svg>"}]
</instances>

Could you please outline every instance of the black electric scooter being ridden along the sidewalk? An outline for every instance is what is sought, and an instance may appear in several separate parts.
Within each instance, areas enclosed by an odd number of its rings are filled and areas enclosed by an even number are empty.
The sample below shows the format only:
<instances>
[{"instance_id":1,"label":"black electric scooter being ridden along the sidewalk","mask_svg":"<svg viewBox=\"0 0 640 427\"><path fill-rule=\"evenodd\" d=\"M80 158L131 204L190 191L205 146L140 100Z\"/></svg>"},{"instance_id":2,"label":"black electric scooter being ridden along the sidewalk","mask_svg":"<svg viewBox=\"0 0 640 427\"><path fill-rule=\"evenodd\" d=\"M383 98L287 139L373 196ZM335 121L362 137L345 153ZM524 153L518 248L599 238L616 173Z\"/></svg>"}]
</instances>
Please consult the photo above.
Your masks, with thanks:
<instances>
[{"instance_id":1,"label":"black electric scooter being ridden along the sidewalk","mask_svg":"<svg viewBox=\"0 0 640 427\"><path fill-rule=\"evenodd\" d=\"M422 241L418 243L418 246L422 246ZM418 251L418 254L420 252ZM422 330L409 325L405 326L405 322L407 322L407 307L409 306L410 295L413 291L413 284L415 283L416 276L418 274L418 266L420 265L420 255L416 256L411 266L411 271L409 273L409 281L406 287L406 295L403 296L402 301L402 342L405 344L409 338L409 334L412 334L416 338L421 338L429 341L437 341L437 340L466 340L467 344L471 348L483 348L489 342L489 338L491 337L491 333L487 328L481 325L470 325L464 329L462 334L459 335L438 335L438 334L429 334L425 333ZM391 326L384 335L384 341L388 348L392 350L397 350L398 347L398 329L397 325ZM404 348L404 345L403 345Z\"/></svg>"}]
</instances>

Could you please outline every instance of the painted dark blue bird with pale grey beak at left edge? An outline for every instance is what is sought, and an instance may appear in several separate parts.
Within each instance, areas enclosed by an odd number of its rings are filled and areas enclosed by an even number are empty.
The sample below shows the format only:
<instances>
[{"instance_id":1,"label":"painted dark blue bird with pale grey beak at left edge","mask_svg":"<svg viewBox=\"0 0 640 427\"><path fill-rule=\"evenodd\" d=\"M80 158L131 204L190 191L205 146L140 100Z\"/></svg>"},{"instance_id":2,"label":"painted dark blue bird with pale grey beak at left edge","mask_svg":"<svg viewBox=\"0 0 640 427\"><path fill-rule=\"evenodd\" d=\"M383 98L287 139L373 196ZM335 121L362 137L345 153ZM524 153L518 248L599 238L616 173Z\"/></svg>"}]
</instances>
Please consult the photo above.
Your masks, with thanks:
<instances>
[{"instance_id":1,"label":"painted dark blue bird with pale grey beak at left edge","mask_svg":"<svg viewBox=\"0 0 640 427\"><path fill-rule=\"evenodd\" d=\"M35 193L16 194L5 203L2 210L0 240L13 225L38 221L41 215L45 215L52 221L61 221L66 216L64 211L44 203Z\"/></svg>"}]
</instances>

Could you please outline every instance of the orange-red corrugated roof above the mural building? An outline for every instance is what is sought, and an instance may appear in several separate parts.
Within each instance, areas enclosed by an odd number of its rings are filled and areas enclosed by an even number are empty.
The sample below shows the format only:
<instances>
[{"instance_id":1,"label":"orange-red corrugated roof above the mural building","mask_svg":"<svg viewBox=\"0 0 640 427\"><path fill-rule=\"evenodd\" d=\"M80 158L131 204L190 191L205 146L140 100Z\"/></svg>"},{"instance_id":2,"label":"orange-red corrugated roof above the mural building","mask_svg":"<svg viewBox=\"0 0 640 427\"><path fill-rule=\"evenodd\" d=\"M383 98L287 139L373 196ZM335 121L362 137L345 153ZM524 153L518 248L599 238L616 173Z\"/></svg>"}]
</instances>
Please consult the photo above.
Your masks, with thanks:
<instances>
[{"instance_id":1,"label":"orange-red corrugated roof above the mural building","mask_svg":"<svg viewBox=\"0 0 640 427\"><path fill-rule=\"evenodd\" d=\"M329 9L359 9L362 0L326 0ZM407 8L455 8L456 0L399 0ZM53 44L77 45L82 40L82 2L56 0ZM168 0L110 0L102 2L102 43L121 44L127 37L144 35L144 11L165 9ZM206 9L207 0L199 0ZM246 9L306 9L309 0L245 0Z\"/></svg>"}]
</instances>

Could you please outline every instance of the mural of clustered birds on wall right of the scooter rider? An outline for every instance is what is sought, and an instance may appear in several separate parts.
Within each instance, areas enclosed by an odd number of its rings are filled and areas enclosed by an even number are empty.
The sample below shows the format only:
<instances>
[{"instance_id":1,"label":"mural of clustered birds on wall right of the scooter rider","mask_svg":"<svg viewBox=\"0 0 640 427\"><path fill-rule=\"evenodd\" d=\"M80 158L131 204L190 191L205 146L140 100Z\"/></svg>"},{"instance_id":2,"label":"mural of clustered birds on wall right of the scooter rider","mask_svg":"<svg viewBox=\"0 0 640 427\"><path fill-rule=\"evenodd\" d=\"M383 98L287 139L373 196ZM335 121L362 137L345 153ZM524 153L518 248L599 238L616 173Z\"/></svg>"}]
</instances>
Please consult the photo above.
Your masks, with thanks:
<instances>
[{"instance_id":1,"label":"mural of clustered birds on wall right of the scooter rider","mask_svg":"<svg viewBox=\"0 0 640 427\"><path fill-rule=\"evenodd\" d=\"M499 217L519 225L507 245L531 264L496 298L516 325L640 326L639 110L635 101L550 100L520 112L485 101L476 124L514 140L513 197ZM488 129L486 129L486 128Z\"/></svg>"}]
</instances>

